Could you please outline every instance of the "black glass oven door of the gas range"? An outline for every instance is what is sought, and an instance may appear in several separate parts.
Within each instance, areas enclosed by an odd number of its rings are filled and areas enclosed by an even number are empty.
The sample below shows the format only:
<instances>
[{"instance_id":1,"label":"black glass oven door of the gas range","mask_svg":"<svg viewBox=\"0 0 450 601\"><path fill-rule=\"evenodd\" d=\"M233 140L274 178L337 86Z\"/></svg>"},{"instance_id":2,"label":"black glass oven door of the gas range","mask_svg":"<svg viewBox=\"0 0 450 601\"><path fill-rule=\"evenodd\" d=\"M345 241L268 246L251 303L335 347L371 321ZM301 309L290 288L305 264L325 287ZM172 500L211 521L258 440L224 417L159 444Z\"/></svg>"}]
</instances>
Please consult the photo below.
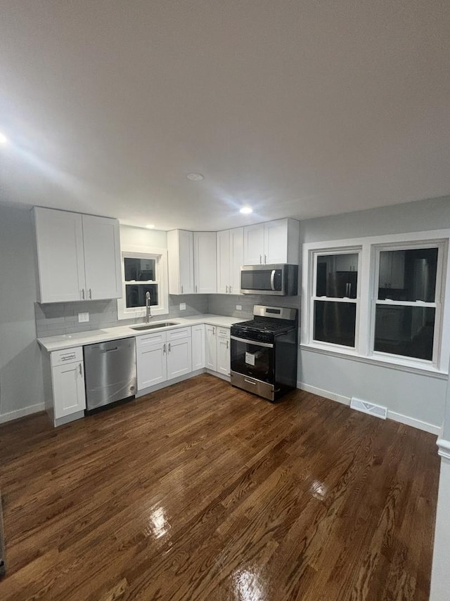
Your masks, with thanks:
<instances>
[{"instance_id":1,"label":"black glass oven door of the gas range","mask_svg":"<svg viewBox=\"0 0 450 601\"><path fill-rule=\"evenodd\" d=\"M231 371L274 384L274 345L231 336Z\"/></svg>"}]
</instances>

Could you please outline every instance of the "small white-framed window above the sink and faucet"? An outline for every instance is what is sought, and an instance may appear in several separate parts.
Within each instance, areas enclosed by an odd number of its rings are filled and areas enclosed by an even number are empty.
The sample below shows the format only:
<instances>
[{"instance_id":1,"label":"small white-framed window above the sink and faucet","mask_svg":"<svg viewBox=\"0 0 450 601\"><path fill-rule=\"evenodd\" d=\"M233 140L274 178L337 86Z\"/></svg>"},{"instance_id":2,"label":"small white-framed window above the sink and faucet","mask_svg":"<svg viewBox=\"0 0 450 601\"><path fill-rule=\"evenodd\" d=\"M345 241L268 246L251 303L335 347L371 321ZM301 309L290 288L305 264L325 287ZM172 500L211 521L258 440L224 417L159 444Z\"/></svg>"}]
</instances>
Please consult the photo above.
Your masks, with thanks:
<instances>
[{"instance_id":1,"label":"small white-framed window above the sink and faucet","mask_svg":"<svg viewBox=\"0 0 450 601\"><path fill-rule=\"evenodd\" d=\"M120 319L143 317L147 295L153 315L167 313L166 251L122 249L122 290L122 299L117 301Z\"/></svg>"}]
</instances>

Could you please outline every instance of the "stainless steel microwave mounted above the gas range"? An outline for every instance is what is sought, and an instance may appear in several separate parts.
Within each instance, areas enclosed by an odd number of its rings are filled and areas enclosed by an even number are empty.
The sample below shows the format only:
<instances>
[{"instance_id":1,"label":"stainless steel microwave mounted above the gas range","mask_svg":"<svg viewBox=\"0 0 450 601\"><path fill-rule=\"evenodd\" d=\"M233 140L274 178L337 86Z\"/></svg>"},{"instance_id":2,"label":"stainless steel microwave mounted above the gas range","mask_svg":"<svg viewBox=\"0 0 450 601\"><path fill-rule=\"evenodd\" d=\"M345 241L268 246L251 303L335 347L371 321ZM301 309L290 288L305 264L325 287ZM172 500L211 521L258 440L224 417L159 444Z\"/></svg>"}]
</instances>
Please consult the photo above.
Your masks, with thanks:
<instances>
[{"instance_id":1,"label":"stainless steel microwave mounted above the gas range","mask_svg":"<svg viewBox=\"0 0 450 601\"><path fill-rule=\"evenodd\" d=\"M295 296L298 265L245 265L240 268L240 292L243 295Z\"/></svg>"}]
</instances>

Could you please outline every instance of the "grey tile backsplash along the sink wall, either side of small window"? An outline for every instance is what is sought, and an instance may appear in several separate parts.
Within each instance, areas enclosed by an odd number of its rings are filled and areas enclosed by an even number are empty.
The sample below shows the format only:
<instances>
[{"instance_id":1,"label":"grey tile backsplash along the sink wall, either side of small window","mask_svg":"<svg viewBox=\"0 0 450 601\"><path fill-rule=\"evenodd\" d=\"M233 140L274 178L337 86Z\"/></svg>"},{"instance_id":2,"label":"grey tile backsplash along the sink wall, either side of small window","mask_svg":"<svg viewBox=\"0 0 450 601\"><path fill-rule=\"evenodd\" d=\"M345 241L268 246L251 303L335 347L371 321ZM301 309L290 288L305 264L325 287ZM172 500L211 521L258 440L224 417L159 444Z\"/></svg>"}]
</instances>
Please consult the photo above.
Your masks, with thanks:
<instances>
[{"instance_id":1,"label":"grey tile backsplash along the sink wall, either side of small window","mask_svg":"<svg viewBox=\"0 0 450 601\"><path fill-rule=\"evenodd\" d=\"M179 304L186 303L186 310L180 311ZM89 322L79 323L79 313L89 313ZM156 319L191 317L208 312L207 295L169 296L169 312L155 316ZM72 334L99 328L113 328L115 325L141 323L143 318L118 319L117 301L84 301L68 303L34 303L37 337Z\"/></svg>"}]
</instances>

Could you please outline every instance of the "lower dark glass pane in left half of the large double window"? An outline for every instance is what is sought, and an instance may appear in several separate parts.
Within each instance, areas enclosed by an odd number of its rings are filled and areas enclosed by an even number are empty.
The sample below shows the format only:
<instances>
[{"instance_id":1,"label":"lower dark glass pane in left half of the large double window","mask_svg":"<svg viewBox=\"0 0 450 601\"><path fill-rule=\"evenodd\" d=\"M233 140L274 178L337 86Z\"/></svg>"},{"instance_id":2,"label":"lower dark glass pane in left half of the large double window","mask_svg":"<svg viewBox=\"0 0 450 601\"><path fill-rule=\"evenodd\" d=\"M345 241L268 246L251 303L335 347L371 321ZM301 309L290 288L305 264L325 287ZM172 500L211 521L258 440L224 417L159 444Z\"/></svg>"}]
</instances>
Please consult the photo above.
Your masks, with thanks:
<instances>
[{"instance_id":1,"label":"lower dark glass pane in left half of the large double window","mask_svg":"<svg viewBox=\"0 0 450 601\"><path fill-rule=\"evenodd\" d=\"M356 303L314 301L314 340L354 347Z\"/></svg>"}]
</instances>

